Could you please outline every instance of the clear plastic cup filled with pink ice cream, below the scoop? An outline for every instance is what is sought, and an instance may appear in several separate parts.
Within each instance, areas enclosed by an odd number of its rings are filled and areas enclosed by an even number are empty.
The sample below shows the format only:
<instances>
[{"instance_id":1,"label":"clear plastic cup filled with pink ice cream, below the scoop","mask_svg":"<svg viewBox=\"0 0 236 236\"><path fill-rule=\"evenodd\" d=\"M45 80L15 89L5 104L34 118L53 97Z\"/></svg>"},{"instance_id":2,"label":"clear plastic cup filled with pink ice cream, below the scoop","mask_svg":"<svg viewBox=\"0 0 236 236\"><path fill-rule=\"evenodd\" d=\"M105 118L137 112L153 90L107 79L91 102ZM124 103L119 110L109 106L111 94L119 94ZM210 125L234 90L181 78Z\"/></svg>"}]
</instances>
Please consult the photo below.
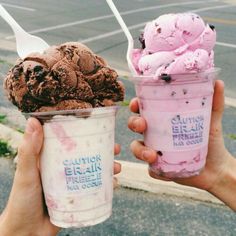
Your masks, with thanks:
<instances>
[{"instance_id":1,"label":"clear plastic cup filled with pink ice cream, below the scoop","mask_svg":"<svg viewBox=\"0 0 236 236\"><path fill-rule=\"evenodd\" d=\"M159 156L149 166L157 175L184 178L204 168L219 71L133 77L140 115L147 122L144 143Z\"/></svg>"}]
</instances>

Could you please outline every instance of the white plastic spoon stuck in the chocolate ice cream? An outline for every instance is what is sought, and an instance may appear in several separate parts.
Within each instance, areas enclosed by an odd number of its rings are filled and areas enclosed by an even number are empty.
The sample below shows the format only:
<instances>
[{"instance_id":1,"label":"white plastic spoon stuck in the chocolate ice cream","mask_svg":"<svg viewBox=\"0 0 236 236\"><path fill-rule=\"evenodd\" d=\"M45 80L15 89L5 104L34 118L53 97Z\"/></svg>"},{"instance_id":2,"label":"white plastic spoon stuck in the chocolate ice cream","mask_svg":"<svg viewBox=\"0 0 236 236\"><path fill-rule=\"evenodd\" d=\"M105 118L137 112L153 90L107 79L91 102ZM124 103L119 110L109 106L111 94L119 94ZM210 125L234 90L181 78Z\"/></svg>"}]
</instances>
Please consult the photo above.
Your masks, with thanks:
<instances>
[{"instance_id":1,"label":"white plastic spoon stuck in the chocolate ice cream","mask_svg":"<svg viewBox=\"0 0 236 236\"><path fill-rule=\"evenodd\" d=\"M16 37L16 49L20 58L25 58L32 52L42 53L49 45L41 38L27 33L0 5L0 16L11 26Z\"/></svg>"}]
</instances>

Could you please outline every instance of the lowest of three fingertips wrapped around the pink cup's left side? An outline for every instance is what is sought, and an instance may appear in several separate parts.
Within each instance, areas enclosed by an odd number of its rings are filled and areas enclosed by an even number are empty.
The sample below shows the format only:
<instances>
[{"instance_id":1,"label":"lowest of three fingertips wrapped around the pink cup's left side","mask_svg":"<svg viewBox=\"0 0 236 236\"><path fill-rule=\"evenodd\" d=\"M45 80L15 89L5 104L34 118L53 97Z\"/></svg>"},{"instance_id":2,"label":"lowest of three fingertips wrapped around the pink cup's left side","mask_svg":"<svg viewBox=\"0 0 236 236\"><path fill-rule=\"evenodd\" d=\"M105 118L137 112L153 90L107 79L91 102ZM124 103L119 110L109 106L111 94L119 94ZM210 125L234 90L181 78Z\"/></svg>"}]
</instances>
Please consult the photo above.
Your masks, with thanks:
<instances>
[{"instance_id":1,"label":"lowest of three fingertips wrapped around the pink cup's left side","mask_svg":"<svg viewBox=\"0 0 236 236\"><path fill-rule=\"evenodd\" d=\"M130 149L134 156L142 161L153 163L157 159L157 153L146 146L142 141L135 140L130 144Z\"/></svg>"}]
</instances>

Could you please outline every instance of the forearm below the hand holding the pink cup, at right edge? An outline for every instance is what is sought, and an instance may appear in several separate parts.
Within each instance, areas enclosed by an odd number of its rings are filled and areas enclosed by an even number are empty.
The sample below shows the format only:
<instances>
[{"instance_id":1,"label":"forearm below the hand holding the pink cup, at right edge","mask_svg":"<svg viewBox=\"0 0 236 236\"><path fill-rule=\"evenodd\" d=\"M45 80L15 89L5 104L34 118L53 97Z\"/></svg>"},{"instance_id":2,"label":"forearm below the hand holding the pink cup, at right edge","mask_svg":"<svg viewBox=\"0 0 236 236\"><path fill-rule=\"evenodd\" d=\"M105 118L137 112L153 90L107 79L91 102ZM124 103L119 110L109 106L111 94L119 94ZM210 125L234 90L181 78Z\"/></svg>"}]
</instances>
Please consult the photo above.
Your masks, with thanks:
<instances>
[{"instance_id":1,"label":"forearm below the hand holding the pink cup, at right edge","mask_svg":"<svg viewBox=\"0 0 236 236\"><path fill-rule=\"evenodd\" d=\"M236 159L231 155L225 172L209 192L236 211Z\"/></svg>"}]
</instances>

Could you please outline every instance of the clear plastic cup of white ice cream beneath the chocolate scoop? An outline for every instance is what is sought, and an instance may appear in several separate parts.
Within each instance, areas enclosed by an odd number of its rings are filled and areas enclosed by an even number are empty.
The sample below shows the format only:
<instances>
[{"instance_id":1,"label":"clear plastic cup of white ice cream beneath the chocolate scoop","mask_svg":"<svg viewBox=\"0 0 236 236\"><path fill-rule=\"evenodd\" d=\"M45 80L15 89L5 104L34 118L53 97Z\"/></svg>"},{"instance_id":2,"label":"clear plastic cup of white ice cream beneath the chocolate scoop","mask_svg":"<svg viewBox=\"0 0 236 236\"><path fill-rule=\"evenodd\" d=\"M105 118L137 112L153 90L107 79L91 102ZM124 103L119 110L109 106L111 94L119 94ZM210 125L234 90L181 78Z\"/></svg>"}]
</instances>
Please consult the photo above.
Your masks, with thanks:
<instances>
[{"instance_id":1,"label":"clear plastic cup of white ice cream beneath the chocolate scoop","mask_svg":"<svg viewBox=\"0 0 236 236\"><path fill-rule=\"evenodd\" d=\"M27 114L43 124L40 170L54 225L92 226L111 215L116 111L113 106Z\"/></svg>"}]
</instances>

